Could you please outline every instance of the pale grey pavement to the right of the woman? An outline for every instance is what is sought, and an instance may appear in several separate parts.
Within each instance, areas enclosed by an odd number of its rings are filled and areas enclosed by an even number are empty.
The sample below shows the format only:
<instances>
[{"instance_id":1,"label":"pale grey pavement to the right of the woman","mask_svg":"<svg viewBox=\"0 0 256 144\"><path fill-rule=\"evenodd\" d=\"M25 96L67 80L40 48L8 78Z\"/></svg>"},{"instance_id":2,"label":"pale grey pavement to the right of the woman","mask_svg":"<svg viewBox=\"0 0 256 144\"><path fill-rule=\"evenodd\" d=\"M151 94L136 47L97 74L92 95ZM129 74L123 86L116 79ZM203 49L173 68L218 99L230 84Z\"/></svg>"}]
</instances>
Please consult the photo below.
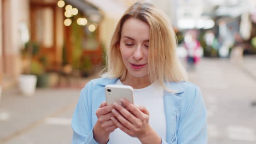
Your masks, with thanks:
<instances>
[{"instance_id":1,"label":"pale grey pavement to the right of the woman","mask_svg":"<svg viewBox=\"0 0 256 144\"><path fill-rule=\"evenodd\" d=\"M228 58L203 58L189 73L205 100L208 144L256 143L256 57L245 56L242 63L243 67Z\"/></svg>"}]
</instances>

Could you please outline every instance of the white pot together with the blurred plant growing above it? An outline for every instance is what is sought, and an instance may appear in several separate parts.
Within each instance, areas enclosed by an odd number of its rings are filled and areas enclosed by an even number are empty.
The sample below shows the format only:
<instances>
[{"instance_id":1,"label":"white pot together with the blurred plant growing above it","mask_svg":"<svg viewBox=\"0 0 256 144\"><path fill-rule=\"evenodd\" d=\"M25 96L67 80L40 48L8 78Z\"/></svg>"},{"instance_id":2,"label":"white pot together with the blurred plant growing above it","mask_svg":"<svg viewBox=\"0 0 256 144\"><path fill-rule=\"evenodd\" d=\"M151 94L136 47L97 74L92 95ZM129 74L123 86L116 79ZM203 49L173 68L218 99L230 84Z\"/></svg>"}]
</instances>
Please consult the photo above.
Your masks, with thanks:
<instances>
[{"instance_id":1,"label":"white pot together with the blurred plant growing above it","mask_svg":"<svg viewBox=\"0 0 256 144\"><path fill-rule=\"evenodd\" d=\"M22 74L19 76L18 84L23 95L30 96L36 91L37 76L32 74L33 56L39 51L39 45L28 41L24 49L21 50Z\"/></svg>"}]
</instances>

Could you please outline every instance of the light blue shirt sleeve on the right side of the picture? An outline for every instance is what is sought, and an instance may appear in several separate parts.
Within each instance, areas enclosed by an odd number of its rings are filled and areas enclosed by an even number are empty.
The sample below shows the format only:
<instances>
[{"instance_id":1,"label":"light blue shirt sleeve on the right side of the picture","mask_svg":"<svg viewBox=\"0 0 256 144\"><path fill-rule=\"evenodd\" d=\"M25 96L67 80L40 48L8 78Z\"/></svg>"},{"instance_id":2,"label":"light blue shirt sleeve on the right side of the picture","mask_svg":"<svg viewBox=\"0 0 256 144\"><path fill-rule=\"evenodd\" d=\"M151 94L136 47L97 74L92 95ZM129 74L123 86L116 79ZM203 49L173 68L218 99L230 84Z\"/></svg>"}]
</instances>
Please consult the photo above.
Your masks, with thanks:
<instances>
[{"instance_id":1,"label":"light blue shirt sleeve on the right side of the picture","mask_svg":"<svg viewBox=\"0 0 256 144\"><path fill-rule=\"evenodd\" d=\"M206 144L207 113L199 87L187 88L183 99L173 144Z\"/></svg>"}]
</instances>

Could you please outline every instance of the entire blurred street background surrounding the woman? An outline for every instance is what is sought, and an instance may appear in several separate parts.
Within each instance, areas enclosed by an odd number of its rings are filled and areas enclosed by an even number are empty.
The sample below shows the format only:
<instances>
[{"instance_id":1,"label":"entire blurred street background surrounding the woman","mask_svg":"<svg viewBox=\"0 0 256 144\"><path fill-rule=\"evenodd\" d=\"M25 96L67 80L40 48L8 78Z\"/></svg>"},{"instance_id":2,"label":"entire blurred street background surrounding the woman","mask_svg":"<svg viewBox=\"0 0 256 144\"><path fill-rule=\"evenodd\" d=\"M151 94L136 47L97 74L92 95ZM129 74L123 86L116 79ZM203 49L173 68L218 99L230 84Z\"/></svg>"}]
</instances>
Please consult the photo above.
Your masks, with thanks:
<instances>
[{"instance_id":1,"label":"entire blurred street background surrounding the woman","mask_svg":"<svg viewBox=\"0 0 256 144\"><path fill-rule=\"evenodd\" d=\"M71 143L81 89L100 77L136 0L0 0L0 143ZM209 144L256 143L256 1L148 0L201 88Z\"/></svg>"}]
</instances>

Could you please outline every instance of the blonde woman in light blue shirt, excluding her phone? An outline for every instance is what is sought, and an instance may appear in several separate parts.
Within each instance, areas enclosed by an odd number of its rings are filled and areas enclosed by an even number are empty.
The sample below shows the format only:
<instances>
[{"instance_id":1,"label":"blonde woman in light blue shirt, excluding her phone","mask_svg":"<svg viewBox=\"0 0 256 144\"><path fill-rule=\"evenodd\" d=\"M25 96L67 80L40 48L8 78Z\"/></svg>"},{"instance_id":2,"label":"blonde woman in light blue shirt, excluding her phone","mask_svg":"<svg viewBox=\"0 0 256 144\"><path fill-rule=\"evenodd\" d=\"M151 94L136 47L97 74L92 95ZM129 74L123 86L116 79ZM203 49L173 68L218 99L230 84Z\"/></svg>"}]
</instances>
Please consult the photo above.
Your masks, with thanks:
<instances>
[{"instance_id":1,"label":"blonde woman in light blue shirt, excluding her phone","mask_svg":"<svg viewBox=\"0 0 256 144\"><path fill-rule=\"evenodd\" d=\"M200 89L185 82L176 38L161 10L133 4L107 51L103 78L82 90L72 119L72 143L207 143ZM104 86L129 85L135 104L106 105ZM150 115L149 115L150 114Z\"/></svg>"}]
</instances>

